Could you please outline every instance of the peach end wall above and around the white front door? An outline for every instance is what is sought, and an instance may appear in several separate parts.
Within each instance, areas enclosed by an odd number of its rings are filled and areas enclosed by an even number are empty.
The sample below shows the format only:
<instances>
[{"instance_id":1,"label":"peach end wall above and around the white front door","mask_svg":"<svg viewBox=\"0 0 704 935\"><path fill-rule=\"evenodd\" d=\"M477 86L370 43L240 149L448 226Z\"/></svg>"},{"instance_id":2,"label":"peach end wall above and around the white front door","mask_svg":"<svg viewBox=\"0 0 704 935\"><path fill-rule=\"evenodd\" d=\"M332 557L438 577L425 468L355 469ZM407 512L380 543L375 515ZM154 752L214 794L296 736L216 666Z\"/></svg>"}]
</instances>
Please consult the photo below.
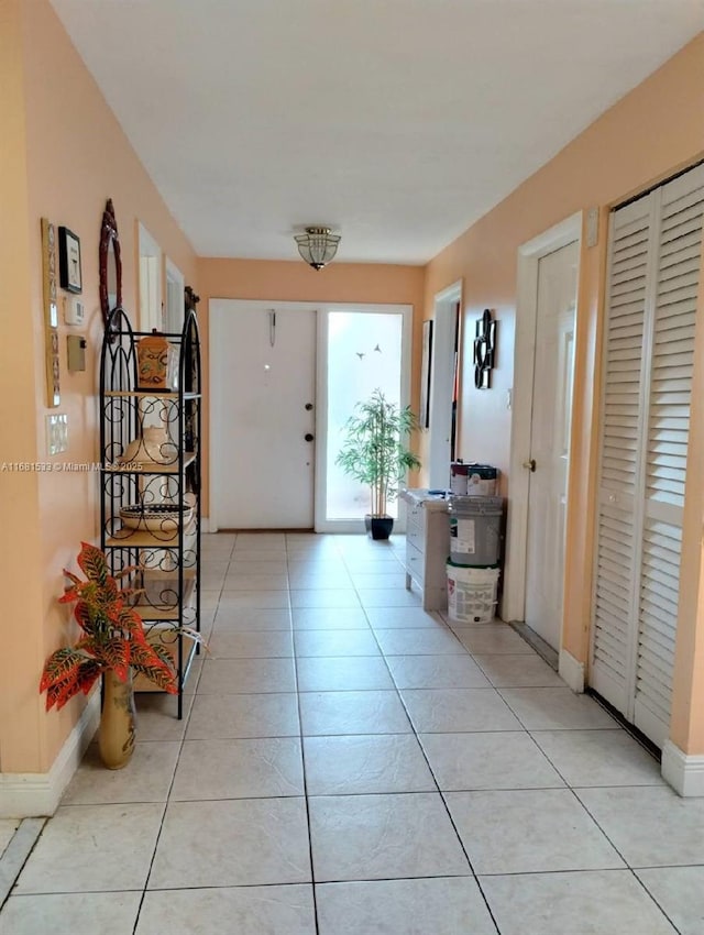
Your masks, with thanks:
<instances>
[{"instance_id":1,"label":"peach end wall above and around the white front door","mask_svg":"<svg viewBox=\"0 0 704 935\"><path fill-rule=\"evenodd\" d=\"M293 244L293 241L292 241ZM316 271L302 260L208 260L198 261L200 304L198 318L206 358L208 349L208 301L211 298L262 301L319 301L411 305L414 307L411 405L418 405L420 332L425 270L421 266L332 263ZM205 450L209 448L208 407L205 407ZM205 465L204 509L208 510L208 470Z\"/></svg>"}]
</instances>

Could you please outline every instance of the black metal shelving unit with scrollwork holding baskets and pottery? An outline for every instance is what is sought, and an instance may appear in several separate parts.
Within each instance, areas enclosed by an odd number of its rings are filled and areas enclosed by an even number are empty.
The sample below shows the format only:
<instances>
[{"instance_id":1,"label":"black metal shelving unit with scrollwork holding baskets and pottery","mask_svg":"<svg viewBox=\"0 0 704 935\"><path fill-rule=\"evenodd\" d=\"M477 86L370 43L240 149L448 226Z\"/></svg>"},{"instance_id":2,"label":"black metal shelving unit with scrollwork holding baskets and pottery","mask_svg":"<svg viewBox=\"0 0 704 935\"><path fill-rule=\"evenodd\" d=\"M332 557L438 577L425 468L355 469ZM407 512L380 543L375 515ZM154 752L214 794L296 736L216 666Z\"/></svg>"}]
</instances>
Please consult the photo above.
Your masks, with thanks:
<instances>
[{"instance_id":1,"label":"black metal shelving unit with scrollwork holding baskets and pottery","mask_svg":"<svg viewBox=\"0 0 704 935\"><path fill-rule=\"evenodd\" d=\"M122 308L108 320L100 356L100 538L111 571L134 566L124 586L142 588L136 609L148 639L167 648L178 675L178 710L199 645L179 631L200 631L200 337L195 310L180 333L165 333L178 355L177 389L142 388L138 342ZM135 440L158 429L153 446ZM164 435L165 432L165 435ZM131 448L130 448L131 446ZM125 461L125 455L130 461ZM127 507L130 525L125 525ZM156 516L161 510L163 515ZM142 678L142 676L141 676ZM153 691L135 683L135 691Z\"/></svg>"}]
</instances>

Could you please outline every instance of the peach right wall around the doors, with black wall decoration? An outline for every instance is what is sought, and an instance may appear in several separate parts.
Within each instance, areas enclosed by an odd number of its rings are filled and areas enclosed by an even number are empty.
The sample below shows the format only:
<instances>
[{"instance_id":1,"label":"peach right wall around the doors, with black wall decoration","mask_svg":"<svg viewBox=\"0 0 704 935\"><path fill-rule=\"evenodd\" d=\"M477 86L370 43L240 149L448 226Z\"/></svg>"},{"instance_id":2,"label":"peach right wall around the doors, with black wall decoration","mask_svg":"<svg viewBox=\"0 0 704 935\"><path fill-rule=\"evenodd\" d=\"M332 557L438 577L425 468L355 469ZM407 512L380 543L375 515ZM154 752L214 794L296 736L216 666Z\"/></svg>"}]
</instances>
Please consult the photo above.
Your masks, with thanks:
<instances>
[{"instance_id":1,"label":"peach right wall around the doors, with black wall decoration","mask_svg":"<svg viewBox=\"0 0 704 935\"><path fill-rule=\"evenodd\" d=\"M510 413L506 391L513 385L517 251L539 233L579 210L600 206L601 242L582 249L576 333L571 496L566 542L563 647L578 660L588 656L591 570L593 552L594 460L597 414L600 328L605 273L605 238L609 206L694 163L704 153L704 34L700 34L658 72L604 113L550 163L531 176L501 205L450 244L427 267L425 315L432 314L433 296L462 278L464 367L461 397L460 449L464 458L481 458L503 472L509 466ZM493 389L474 389L471 374L473 322L483 308L498 319L497 367ZM516 392L520 388L516 387ZM692 431L702 431L693 420ZM700 472L700 477L702 476ZM701 484L701 481L696 482ZM509 496L510 477L503 492ZM694 496L694 491L689 491ZM693 502L693 501L692 501ZM698 556L698 535L689 548ZM698 592L697 572L683 580L683 593ZM690 565L683 571L690 574ZM680 620L680 632L704 627L702 601L696 615ZM680 716L694 673L683 672L678 656L673 724ZM700 659L700 667L702 660ZM682 678L680 678L682 676ZM700 684L704 672L698 673ZM684 680L684 681L683 681ZM698 694L698 707L704 708ZM686 718L689 724L689 718ZM678 722L679 723L679 722ZM686 734L689 749L704 752L704 718Z\"/></svg>"}]
</instances>

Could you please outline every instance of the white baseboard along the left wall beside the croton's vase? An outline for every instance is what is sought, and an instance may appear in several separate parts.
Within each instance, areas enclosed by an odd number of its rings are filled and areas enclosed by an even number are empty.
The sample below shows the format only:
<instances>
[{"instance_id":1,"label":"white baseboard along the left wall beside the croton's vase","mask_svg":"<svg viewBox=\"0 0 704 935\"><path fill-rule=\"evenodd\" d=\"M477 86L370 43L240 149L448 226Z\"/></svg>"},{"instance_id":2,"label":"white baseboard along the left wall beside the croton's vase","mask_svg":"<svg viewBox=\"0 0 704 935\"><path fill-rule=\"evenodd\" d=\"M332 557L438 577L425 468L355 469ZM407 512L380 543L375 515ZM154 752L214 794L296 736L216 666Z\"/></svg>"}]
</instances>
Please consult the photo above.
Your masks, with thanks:
<instances>
[{"instance_id":1,"label":"white baseboard along the left wall beside the croton's vase","mask_svg":"<svg viewBox=\"0 0 704 935\"><path fill-rule=\"evenodd\" d=\"M99 723L95 691L48 772L0 773L0 818L53 815Z\"/></svg>"}]
</instances>

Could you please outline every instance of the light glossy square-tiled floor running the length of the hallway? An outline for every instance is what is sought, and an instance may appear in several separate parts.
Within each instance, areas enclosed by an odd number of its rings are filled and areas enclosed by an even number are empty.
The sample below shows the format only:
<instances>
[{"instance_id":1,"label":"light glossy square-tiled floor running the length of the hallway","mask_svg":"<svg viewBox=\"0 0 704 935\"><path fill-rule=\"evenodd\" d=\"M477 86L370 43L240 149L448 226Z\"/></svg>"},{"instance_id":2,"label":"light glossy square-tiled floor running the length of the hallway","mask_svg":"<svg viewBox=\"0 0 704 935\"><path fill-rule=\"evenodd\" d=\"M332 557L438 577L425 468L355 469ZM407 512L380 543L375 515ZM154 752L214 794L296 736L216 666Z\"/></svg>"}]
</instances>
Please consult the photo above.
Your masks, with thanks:
<instances>
[{"instance_id":1,"label":"light glossy square-tiled floor running the length of the hallway","mask_svg":"<svg viewBox=\"0 0 704 935\"><path fill-rule=\"evenodd\" d=\"M205 538L212 654L91 747L0 935L702 935L704 801L403 538ZM0 851L14 825L0 823Z\"/></svg>"}]
</instances>

